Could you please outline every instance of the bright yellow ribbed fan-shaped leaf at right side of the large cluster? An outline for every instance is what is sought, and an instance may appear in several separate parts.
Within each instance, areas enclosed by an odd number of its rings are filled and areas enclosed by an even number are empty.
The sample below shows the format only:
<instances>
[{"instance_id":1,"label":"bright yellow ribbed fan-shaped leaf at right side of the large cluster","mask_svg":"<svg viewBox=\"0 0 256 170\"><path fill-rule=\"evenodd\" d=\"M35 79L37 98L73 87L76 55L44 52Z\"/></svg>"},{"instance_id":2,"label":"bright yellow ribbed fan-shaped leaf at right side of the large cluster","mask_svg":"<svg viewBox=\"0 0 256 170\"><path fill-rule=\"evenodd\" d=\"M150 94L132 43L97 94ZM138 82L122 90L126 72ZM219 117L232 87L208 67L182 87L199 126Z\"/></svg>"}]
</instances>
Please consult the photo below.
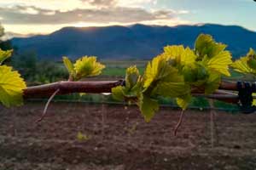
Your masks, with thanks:
<instances>
[{"instance_id":1,"label":"bright yellow ribbed fan-shaped leaf at right side of the large cluster","mask_svg":"<svg viewBox=\"0 0 256 170\"><path fill-rule=\"evenodd\" d=\"M229 65L232 64L230 52L222 51L211 59L203 59L203 63L206 64L209 70L230 77Z\"/></svg>"}]
</instances>

